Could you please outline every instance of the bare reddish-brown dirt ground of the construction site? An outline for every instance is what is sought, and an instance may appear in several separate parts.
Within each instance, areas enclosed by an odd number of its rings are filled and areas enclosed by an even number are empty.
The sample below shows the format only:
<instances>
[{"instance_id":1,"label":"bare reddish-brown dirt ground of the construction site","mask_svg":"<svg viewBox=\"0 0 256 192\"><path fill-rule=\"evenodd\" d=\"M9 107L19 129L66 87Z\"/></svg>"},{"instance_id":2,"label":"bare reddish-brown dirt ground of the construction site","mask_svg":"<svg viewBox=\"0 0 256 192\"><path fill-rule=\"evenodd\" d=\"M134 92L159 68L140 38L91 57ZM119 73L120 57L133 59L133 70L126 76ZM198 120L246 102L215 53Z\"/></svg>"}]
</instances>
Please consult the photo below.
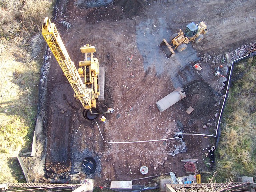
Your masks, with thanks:
<instances>
[{"instance_id":1,"label":"bare reddish-brown dirt ground of the construction site","mask_svg":"<svg viewBox=\"0 0 256 192\"><path fill-rule=\"evenodd\" d=\"M215 134L218 116L214 115L219 106L214 104L222 101L224 90L218 87L219 77L214 77L220 60L214 61L209 55L222 58L226 51L255 38L255 1L116 0L103 7L85 5L86 1L58 1L53 22L77 67L83 59L80 47L86 43L96 45L96 57L106 73L105 101L97 103L98 109L106 112L103 104L115 109L113 114L105 115L106 124L97 119L106 141L166 139L173 138L175 132ZM63 18L72 24L71 29L59 23ZM184 52L167 60L158 44L192 21L207 24L203 41L189 44ZM210 61L201 61L202 70L197 73L193 65L202 54L208 55ZM131 55L133 59L127 66ZM135 77L131 78L130 73ZM47 84L47 182L94 178L97 184L108 185L109 179L131 180L170 171L177 177L185 176L182 158L198 159L197 167L208 169L209 159L203 149L214 144L213 137L186 135L182 141L105 143L95 121L83 117L82 106L75 101L53 56ZM160 113L156 102L177 87L184 88L186 98ZM129 105L133 110L126 113ZM185 111L190 106L195 110L188 115ZM212 126L203 129L207 123ZM172 157L175 149L179 153ZM93 174L83 172L86 157L96 161ZM143 165L149 168L145 176L139 171ZM147 184L151 180L139 182Z\"/></svg>"}]
</instances>

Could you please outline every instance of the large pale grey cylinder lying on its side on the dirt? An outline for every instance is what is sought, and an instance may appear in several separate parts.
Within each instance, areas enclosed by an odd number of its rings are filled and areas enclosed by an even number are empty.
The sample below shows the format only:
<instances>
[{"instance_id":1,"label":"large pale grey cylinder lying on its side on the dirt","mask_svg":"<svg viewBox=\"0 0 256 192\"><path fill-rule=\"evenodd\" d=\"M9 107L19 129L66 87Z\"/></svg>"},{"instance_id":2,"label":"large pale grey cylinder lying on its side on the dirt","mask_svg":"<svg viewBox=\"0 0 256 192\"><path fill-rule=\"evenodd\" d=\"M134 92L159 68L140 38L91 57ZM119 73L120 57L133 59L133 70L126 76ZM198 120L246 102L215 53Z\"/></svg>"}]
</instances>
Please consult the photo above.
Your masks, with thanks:
<instances>
[{"instance_id":1,"label":"large pale grey cylinder lying on its side on the dirt","mask_svg":"<svg viewBox=\"0 0 256 192\"><path fill-rule=\"evenodd\" d=\"M171 92L169 95L157 101L156 106L160 112L163 112L184 97L186 97L186 94L183 93L182 88L178 87L177 89L175 89L175 91Z\"/></svg>"}]
</instances>

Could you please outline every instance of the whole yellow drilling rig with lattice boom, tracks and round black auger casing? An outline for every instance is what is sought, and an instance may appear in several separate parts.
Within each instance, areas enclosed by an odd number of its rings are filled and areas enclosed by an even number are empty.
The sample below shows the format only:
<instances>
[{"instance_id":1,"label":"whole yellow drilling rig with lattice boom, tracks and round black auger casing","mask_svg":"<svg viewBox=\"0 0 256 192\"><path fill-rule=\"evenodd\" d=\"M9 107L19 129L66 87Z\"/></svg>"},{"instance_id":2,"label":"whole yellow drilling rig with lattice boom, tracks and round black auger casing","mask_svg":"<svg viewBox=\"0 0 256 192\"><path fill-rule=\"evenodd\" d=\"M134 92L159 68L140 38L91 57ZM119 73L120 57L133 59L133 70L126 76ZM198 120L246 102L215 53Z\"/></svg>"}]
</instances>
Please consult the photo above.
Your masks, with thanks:
<instances>
[{"instance_id":1,"label":"whole yellow drilling rig with lattice boom, tracks and round black auger casing","mask_svg":"<svg viewBox=\"0 0 256 192\"><path fill-rule=\"evenodd\" d=\"M96 52L95 47L86 44L80 48L81 53L84 54L84 61L79 62L77 70L55 24L51 23L48 17L44 18L42 35L73 88L75 98L82 103L85 109L84 117L89 120L97 118L96 99L104 100L105 71L104 67L99 67L98 59L93 57L93 53Z\"/></svg>"}]
</instances>

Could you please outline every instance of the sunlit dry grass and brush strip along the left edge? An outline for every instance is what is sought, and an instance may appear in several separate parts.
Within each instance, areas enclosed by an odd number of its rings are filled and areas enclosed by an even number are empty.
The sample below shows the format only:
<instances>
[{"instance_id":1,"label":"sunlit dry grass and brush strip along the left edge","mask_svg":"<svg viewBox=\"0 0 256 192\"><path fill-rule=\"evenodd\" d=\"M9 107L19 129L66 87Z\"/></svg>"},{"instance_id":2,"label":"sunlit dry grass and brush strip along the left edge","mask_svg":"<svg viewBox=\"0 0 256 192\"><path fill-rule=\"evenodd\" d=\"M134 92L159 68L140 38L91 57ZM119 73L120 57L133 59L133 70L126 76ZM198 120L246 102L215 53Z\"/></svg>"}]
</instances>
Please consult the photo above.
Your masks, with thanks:
<instances>
[{"instance_id":1,"label":"sunlit dry grass and brush strip along the left edge","mask_svg":"<svg viewBox=\"0 0 256 192\"><path fill-rule=\"evenodd\" d=\"M16 156L31 150L37 115L41 25L52 0L0 1L0 183L24 182Z\"/></svg>"}]
</instances>

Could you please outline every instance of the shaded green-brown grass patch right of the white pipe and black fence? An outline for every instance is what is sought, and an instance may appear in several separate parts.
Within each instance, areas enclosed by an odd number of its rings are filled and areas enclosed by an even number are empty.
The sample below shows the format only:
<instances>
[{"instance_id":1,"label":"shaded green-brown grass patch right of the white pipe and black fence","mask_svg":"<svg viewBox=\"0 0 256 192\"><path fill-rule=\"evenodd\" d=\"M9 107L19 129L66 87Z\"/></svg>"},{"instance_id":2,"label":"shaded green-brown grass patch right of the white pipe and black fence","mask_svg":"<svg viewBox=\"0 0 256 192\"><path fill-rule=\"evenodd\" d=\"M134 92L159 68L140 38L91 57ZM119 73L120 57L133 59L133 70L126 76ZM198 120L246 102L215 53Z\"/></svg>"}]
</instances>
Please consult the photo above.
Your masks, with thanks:
<instances>
[{"instance_id":1,"label":"shaded green-brown grass patch right of the white pipe and black fence","mask_svg":"<svg viewBox=\"0 0 256 192\"><path fill-rule=\"evenodd\" d=\"M256 173L256 59L235 64L222 120L216 178L225 181Z\"/></svg>"}]
</instances>

